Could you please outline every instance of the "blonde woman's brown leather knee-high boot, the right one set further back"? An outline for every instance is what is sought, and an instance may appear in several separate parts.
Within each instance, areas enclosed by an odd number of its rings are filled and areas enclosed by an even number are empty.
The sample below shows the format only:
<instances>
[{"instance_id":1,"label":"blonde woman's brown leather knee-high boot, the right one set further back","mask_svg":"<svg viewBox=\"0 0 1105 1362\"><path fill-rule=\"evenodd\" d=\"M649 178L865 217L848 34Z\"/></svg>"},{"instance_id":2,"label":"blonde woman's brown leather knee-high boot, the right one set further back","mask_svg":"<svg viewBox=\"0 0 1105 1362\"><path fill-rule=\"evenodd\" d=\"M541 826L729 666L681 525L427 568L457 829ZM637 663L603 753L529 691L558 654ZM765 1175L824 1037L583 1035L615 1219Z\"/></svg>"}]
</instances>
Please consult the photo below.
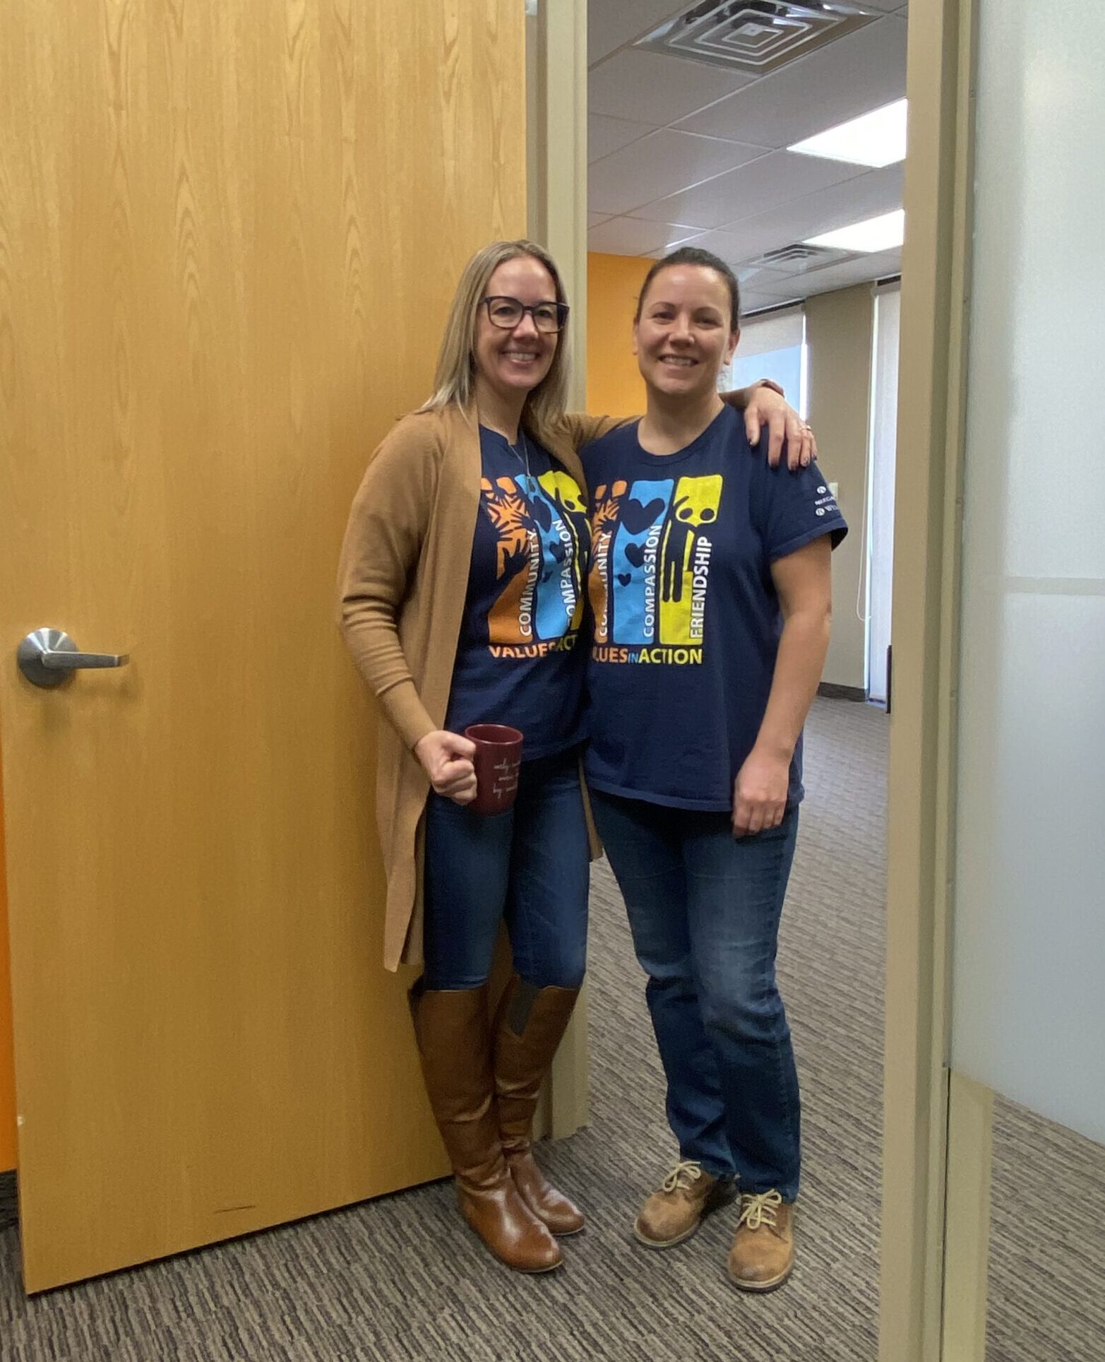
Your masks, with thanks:
<instances>
[{"instance_id":1,"label":"blonde woman's brown leather knee-high boot, the right one set further back","mask_svg":"<svg viewBox=\"0 0 1105 1362\"><path fill-rule=\"evenodd\" d=\"M516 974L506 985L495 1019L502 1152L525 1204L554 1234L576 1234L582 1230L584 1218L533 1160L533 1113L578 994L578 989L538 989Z\"/></svg>"}]
</instances>

